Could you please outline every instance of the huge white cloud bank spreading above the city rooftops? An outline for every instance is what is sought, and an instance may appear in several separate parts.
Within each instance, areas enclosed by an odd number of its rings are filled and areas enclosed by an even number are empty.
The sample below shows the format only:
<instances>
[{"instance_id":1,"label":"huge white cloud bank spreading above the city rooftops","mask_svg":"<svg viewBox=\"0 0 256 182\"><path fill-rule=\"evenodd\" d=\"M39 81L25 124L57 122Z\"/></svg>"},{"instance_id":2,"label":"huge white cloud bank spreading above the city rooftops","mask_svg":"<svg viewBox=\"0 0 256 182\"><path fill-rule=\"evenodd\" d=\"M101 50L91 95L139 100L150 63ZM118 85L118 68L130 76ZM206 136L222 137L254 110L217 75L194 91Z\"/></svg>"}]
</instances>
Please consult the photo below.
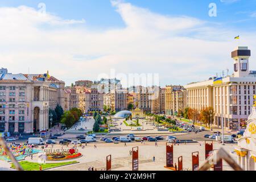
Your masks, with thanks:
<instances>
[{"instance_id":1,"label":"huge white cloud bank spreading above the city rooftops","mask_svg":"<svg viewBox=\"0 0 256 182\"><path fill-rule=\"evenodd\" d=\"M42 16L26 6L0 8L1 66L13 73L27 73L28 67L30 73L49 69L67 84L95 80L112 68L117 73L159 73L161 84L204 80L232 69L230 52L237 46L233 40L237 32L188 16L152 13L130 3L112 4L125 28L90 31L85 20ZM255 34L240 35L241 44L254 55Z\"/></svg>"}]
</instances>

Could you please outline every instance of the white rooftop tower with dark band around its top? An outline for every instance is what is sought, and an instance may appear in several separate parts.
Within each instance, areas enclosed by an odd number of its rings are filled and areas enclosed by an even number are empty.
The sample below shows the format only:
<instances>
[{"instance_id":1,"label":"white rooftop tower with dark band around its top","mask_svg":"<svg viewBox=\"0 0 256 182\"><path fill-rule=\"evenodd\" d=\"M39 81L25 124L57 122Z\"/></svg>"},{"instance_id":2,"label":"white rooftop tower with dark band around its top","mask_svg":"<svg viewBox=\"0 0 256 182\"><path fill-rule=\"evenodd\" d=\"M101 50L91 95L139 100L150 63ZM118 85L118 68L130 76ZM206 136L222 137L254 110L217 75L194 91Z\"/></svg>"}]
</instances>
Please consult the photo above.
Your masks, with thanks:
<instances>
[{"instance_id":1,"label":"white rooftop tower with dark band around its top","mask_svg":"<svg viewBox=\"0 0 256 182\"><path fill-rule=\"evenodd\" d=\"M249 76L249 57L251 51L248 47L237 47L232 52L234 59L234 77L248 77Z\"/></svg>"}]
</instances>

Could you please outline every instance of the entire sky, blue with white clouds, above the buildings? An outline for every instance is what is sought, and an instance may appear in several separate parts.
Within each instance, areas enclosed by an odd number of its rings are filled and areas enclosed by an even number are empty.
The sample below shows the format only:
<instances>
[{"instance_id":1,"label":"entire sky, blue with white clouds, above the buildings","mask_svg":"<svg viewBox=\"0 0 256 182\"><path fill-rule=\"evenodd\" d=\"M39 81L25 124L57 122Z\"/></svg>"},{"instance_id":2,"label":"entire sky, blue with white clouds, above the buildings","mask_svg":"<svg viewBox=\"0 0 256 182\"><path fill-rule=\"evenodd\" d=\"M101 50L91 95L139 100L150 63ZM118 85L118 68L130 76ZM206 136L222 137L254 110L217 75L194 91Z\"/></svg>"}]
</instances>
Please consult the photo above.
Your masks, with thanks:
<instances>
[{"instance_id":1,"label":"entire sky, blue with white clouds, above the buildings","mask_svg":"<svg viewBox=\"0 0 256 182\"><path fill-rule=\"evenodd\" d=\"M43 18L37 14L41 2L46 5ZM256 52L256 0L115 2L0 0L2 66L13 73L49 69L68 85L96 80L110 69L158 73L164 86L232 70L230 51L238 45L234 36ZM208 15L212 2L217 17Z\"/></svg>"}]
</instances>

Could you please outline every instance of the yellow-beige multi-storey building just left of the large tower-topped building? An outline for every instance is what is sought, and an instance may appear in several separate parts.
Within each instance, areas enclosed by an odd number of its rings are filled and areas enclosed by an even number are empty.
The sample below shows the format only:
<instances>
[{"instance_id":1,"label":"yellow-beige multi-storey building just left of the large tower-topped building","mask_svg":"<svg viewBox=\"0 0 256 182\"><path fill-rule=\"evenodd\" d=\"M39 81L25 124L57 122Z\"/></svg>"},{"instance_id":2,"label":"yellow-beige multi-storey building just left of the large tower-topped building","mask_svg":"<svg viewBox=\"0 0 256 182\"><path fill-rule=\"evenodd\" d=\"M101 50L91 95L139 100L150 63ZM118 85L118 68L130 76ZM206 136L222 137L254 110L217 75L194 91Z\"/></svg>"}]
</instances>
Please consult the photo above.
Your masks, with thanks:
<instances>
[{"instance_id":1,"label":"yellow-beige multi-storey building just left of the large tower-topped building","mask_svg":"<svg viewBox=\"0 0 256 182\"><path fill-rule=\"evenodd\" d=\"M180 85L166 86L166 115L174 115L187 107L187 90Z\"/></svg>"}]
</instances>

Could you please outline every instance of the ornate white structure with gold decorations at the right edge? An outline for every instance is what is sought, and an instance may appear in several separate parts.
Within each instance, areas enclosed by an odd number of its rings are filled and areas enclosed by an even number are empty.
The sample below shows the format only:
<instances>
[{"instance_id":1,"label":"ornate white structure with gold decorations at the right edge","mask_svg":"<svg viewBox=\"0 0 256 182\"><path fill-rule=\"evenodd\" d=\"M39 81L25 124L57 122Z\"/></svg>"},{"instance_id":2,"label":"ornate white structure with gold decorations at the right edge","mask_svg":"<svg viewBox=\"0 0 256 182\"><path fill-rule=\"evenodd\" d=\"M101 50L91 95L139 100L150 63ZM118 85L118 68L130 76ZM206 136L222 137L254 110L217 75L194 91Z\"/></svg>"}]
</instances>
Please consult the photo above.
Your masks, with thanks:
<instances>
[{"instance_id":1,"label":"ornate white structure with gold decorations at the right edge","mask_svg":"<svg viewBox=\"0 0 256 182\"><path fill-rule=\"evenodd\" d=\"M238 139L235 151L237 163L243 170L256 170L256 102L247 120L245 133Z\"/></svg>"}]
</instances>

